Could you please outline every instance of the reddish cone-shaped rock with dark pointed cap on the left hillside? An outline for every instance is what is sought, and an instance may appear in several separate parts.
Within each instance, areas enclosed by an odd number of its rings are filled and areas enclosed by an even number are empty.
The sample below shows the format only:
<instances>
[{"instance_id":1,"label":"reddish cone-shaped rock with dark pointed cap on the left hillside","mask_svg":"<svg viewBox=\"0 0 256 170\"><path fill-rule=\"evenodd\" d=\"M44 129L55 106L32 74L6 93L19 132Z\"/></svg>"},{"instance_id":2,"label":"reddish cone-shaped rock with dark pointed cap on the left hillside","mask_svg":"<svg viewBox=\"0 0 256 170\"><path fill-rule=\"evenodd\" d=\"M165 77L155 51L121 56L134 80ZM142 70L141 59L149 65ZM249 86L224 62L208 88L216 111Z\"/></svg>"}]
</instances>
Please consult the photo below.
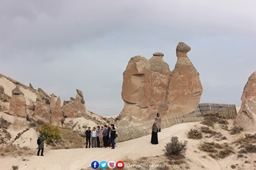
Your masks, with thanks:
<instances>
[{"instance_id":1,"label":"reddish cone-shaped rock with dark pointed cap on the left hillside","mask_svg":"<svg viewBox=\"0 0 256 170\"><path fill-rule=\"evenodd\" d=\"M18 86L12 91L9 113L18 117L26 117L26 99Z\"/></svg>"}]
</instances>

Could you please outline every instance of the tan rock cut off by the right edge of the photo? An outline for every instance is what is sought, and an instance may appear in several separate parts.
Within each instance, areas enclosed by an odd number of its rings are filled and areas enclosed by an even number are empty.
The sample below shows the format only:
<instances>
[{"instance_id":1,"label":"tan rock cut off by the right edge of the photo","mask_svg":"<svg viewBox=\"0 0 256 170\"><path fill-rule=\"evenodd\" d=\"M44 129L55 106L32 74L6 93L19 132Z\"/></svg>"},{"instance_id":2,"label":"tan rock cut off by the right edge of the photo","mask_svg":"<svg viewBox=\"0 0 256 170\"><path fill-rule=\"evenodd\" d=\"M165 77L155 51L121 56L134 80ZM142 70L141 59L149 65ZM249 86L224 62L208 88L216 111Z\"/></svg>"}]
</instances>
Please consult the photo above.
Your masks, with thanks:
<instances>
[{"instance_id":1,"label":"tan rock cut off by the right edge of the photo","mask_svg":"<svg viewBox=\"0 0 256 170\"><path fill-rule=\"evenodd\" d=\"M249 76L243 88L242 105L236 122L243 130L256 132L256 71Z\"/></svg>"}]
</instances>

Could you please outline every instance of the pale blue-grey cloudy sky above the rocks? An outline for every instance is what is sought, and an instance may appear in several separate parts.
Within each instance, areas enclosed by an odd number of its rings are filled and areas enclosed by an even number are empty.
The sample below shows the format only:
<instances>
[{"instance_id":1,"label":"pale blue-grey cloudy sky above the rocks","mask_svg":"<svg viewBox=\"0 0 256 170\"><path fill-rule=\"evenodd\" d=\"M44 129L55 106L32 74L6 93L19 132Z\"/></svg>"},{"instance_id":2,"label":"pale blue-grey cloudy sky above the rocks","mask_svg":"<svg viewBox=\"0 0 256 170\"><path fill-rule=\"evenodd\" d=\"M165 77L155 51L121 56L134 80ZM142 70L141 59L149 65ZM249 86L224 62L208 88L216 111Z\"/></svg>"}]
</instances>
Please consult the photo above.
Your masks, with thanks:
<instances>
[{"instance_id":1,"label":"pale blue-grey cloudy sky above the rocks","mask_svg":"<svg viewBox=\"0 0 256 170\"><path fill-rule=\"evenodd\" d=\"M176 46L204 88L201 103L241 105L256 70L256 1L0 1L0 73L62 100L81 89L88 110L119 114L123 72L132 56Z\"/></svg>"}]
</instances>

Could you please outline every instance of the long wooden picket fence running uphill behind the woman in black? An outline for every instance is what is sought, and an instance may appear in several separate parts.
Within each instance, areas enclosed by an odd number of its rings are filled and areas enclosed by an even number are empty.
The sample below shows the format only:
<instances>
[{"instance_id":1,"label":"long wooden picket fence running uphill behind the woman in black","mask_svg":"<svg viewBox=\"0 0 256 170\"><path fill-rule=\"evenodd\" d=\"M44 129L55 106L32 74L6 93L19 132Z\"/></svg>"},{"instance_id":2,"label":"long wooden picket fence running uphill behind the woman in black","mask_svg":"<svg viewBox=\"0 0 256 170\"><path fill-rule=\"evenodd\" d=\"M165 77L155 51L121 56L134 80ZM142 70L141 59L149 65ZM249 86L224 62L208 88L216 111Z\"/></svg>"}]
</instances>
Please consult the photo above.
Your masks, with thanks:
<instances>
[{"instance_id":1,"label":"long wooden picket fence running uphill behind the woman in black","mask_svg":"<svg viewBox=\"0 0 256 170\"><path fill-rule=\"evenodd\" d=\"M235 105L224 105L216 103L201 103L196 107L196 111L192 114L171 115L168 117L161 117L161 127L171 127L180 123L187 122L201 122L204 120L205 114L221 114L226 119L235 119L236 108ZM154 119L146 120L140 123L134 123L128 126L116 127L118 138L116 142L128 141L132 138L140 138L152 133L152 125Z\"/></svg>"}]
</instances>

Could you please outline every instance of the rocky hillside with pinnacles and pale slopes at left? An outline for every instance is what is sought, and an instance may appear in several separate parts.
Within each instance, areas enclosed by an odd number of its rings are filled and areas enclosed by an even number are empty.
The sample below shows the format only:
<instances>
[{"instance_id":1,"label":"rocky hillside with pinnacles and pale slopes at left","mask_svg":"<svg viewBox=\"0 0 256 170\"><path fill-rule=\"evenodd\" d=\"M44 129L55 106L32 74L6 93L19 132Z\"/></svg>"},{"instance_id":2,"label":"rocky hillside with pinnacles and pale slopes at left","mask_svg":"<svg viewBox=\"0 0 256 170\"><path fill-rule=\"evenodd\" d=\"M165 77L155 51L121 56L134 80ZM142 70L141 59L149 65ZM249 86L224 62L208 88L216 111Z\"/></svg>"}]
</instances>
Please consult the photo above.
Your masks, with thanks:
<instances>
[{"instance_id":1,"label":"rocky hillside with pinnacles and pale slopes at left","mask_svg":"<svg viewBox=\"0 0 256 170\"><path fill-rule=\"evenodd\" d=\"M32 84L26 86L5 75L0 75L0 117L0 146L13 144L21 148L38 147L35 141L38 127L43 123L57 125L63 136L62 141L48 147L72 148L83 147L82 137L88 126L106 125L114 120L86 110L79 89L75 98L63 101L41 88L34 89Z\"/></svg>"}]
</instances>

